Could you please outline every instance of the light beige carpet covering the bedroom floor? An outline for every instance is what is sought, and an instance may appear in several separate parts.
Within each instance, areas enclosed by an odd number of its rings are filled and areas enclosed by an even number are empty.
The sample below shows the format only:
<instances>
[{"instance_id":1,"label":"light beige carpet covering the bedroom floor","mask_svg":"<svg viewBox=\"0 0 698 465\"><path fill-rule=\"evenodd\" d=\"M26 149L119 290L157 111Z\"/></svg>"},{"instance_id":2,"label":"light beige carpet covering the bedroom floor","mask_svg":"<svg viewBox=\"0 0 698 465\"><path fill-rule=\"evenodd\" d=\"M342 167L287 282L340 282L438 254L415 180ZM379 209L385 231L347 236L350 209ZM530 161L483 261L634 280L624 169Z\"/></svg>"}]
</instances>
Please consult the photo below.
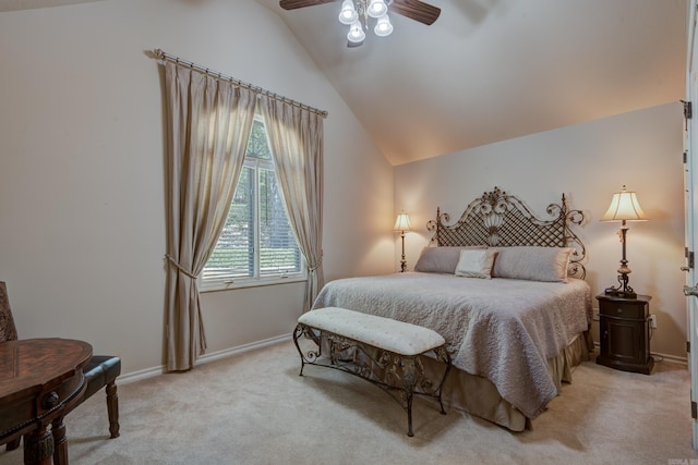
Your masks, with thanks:
<instances>
[{"instance_id":1,"label":"light beige carpet covering the bedroom floor","mask_svg":"<svg viewBox=\"0 0 698 465\"><path fill-rule=\"evenodd\" d=\"M414 400L405 411L350 375L306 367L291 342L182 375L119 387L121 437L108 439L101 394L67 418L72 464L695 464L690 378L586 363L533 429L513 433ZM21 464L22 451L0 452Z\"/></svg>"}]
</instances>

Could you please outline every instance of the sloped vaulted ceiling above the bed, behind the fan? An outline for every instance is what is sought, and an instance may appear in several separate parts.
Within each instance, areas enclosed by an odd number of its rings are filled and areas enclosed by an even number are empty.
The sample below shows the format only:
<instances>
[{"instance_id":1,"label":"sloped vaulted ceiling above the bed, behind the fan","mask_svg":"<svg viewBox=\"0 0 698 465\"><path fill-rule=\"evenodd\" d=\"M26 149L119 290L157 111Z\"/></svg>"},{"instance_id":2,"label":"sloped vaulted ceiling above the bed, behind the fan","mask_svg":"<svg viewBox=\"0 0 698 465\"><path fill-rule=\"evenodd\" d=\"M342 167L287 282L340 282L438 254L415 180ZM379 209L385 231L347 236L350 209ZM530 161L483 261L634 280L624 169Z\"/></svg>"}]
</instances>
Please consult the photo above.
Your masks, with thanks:
<instances>
[{"instance_id":1,"label":"sloped vaulted ceiling above the bed, behind the fan","mask_svg":"<svg viewBox=\"0 0 698 465\"><path fill-rule=\"evenodd\" d=\"M346 47L341 2L279 14L393 164L684 96L686 0L428 0ZM329 115L332 118L332 114ZM513 154L515 156L515 154Z\"/></svg>"}]
</instances>

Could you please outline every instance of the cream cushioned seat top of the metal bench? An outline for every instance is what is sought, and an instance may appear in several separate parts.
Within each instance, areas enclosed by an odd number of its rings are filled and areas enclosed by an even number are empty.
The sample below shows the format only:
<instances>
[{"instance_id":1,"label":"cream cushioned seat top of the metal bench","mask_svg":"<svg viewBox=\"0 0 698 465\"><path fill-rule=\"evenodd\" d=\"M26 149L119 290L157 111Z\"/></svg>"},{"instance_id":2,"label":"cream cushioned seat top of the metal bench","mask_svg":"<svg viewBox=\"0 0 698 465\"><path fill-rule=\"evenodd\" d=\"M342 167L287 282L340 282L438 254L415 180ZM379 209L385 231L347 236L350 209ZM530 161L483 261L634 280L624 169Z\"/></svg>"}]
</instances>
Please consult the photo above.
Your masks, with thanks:
<instances>
[{"instance_id":1,"label":"cream cushioned seat top of the metal bench","mask_svg":"<svg viewBox=\"0 0 698 465\"><path fill-rule=\"evenodd\" d=\"M400 355L418 355L446 343L431 329L339 307L308 311L299 323Z\"/></svg>"}]
</instances>

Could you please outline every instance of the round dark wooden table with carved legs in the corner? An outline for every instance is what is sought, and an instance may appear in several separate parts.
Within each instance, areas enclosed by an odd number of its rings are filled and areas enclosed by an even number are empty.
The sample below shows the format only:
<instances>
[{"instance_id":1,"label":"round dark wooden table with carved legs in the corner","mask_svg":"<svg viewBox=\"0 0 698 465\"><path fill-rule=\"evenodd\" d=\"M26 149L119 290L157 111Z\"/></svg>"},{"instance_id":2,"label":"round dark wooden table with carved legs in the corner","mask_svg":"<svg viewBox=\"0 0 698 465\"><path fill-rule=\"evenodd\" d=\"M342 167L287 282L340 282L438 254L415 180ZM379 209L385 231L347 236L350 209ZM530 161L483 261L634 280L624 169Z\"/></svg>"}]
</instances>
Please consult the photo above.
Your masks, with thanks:
<instances>
[{"instance_id":1,"label":"round dark wooden table with carved legs in the corner","mask_svg":"<svg viewBox=\"0 0 698 465\"><path fill-rule=\"evenodd\" d=\"M0 444L24 437L25 464L50 464L55 448L67 456L63 412L80 402L91 357L83 341L0 342Z\"/></svg>"}]
</instances>

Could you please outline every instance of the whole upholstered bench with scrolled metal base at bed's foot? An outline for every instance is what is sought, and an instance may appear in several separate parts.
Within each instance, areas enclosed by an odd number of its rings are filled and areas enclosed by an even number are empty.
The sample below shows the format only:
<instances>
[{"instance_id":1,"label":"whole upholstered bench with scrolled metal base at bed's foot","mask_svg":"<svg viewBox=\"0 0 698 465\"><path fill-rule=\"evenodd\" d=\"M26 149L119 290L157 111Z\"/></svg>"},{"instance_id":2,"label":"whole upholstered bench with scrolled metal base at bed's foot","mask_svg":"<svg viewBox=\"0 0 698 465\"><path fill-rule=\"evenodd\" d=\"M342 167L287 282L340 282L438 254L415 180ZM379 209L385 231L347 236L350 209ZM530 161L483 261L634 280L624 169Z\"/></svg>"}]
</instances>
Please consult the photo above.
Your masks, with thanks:
<instances>
[{"instance_id":1,"label":"whole upholstered bench with scrolled metal base at bed's foot","mask_svg":"<svg viewBox=\"0 0 698 465\"><path fill-rule=\"evenodd\" d=\"M315 345L303 350L301 336ZM442 388L450 371L450 355L444 338L431 329L327 307L301 315L293 342L301 356L301 376L305 365L317 365L356 375L389 393L397 391L399 397L396 399L407 412L408 436L413 436L413 394L437 399L441 413L446 414ZM324 350L328 351L327 355L323 354ZM432 353L444 362L443 376L436 380L424 372L421 362L421 357Z\"/></svg>"}]
</instances>

